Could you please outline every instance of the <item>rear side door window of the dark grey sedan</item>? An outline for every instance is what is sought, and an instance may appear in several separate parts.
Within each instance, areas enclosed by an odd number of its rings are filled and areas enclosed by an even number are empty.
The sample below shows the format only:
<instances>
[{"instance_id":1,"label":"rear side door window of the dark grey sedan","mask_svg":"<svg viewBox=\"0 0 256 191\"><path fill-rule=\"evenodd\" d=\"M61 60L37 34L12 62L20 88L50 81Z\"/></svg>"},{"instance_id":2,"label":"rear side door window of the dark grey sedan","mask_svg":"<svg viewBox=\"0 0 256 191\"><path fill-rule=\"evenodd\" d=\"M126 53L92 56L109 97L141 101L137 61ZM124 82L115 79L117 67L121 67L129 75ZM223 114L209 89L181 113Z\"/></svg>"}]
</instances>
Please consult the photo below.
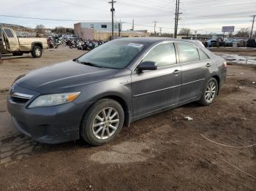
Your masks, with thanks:
<instances>
[{"instance_id":1,"label":"rear side door window of the dark grey sedan","mask_svg":"<svg viewBox=\"0 0 256 191\"><path fill-rule=\"evenodd\" d=\"M199 54L197 47L193 44L179 42L178 51L181 59L181 63L187 63L192 61L199 61Z\"/></svg>"}]
</instances>

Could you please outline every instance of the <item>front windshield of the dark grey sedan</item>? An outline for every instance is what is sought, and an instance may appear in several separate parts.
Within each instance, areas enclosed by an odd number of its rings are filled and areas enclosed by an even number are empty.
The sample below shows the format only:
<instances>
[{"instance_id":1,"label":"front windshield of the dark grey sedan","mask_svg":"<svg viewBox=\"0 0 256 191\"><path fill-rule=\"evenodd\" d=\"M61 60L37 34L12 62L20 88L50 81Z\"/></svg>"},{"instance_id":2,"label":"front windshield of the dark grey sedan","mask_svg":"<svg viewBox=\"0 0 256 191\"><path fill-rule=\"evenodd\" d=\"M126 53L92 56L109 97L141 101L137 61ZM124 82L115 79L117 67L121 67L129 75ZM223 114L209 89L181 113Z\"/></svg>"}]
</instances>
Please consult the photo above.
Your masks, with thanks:
<instances>
[{"instance_id":1,"label":"front windshield of the dark grey sedan","mask_svg":"<svg viewBox=\"0 0 256 191\"><path fill-rule=\"evenodd\" d=\"M143 50L144 45L137 42L114 40L91 50L77 61L103 68L124 69Z\"/></svg>"}]
</instances>

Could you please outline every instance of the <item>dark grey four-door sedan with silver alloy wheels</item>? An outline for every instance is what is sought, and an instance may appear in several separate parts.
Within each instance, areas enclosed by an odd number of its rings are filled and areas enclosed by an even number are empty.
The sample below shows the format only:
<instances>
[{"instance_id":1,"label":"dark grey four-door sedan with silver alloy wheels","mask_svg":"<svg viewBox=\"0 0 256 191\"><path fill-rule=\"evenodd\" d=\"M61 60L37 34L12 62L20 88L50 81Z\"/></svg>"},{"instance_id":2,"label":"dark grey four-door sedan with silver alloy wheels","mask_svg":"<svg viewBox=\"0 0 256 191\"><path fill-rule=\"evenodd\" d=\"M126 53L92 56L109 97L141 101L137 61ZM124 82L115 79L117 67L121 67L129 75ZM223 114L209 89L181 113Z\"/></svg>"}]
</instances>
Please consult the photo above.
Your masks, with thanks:
<instances>
[{"instance_id":1,"label":"dark grey four-door sedan with silver alloy wheels","mask_svg":"<svg viewBox=\"0 0 256 191\"><path fill-rule=\"evenodd\" d=\"M210 105L227 64L200 42L117 39L15 80L7 108L17 128L49 144L113 140L123 125L199 101Z\"/></svg>"}]
</instances>

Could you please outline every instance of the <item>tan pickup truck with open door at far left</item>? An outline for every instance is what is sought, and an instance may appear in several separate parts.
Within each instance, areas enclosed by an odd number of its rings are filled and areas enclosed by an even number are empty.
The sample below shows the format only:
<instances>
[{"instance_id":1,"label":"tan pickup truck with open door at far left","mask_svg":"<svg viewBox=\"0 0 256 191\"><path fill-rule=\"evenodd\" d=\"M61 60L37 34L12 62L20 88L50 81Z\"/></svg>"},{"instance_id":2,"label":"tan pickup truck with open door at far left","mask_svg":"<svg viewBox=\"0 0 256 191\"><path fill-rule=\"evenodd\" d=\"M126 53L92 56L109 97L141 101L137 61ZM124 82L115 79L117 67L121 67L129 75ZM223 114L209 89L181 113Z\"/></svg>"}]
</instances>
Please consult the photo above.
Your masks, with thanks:
<instances>
[{"instance_id":1,"label":"tan pickup truck with open door at far left","mask_svg":"<svg viewBox=\"0 0 256 191\"><path fill-rule=\"evenodd\" d=\"M23 55L31 52L34 58L42 56L42 50L48 47L46 38L18 38L12 28L0 26L0 52Z\"/></svg>"}]
</instances>

